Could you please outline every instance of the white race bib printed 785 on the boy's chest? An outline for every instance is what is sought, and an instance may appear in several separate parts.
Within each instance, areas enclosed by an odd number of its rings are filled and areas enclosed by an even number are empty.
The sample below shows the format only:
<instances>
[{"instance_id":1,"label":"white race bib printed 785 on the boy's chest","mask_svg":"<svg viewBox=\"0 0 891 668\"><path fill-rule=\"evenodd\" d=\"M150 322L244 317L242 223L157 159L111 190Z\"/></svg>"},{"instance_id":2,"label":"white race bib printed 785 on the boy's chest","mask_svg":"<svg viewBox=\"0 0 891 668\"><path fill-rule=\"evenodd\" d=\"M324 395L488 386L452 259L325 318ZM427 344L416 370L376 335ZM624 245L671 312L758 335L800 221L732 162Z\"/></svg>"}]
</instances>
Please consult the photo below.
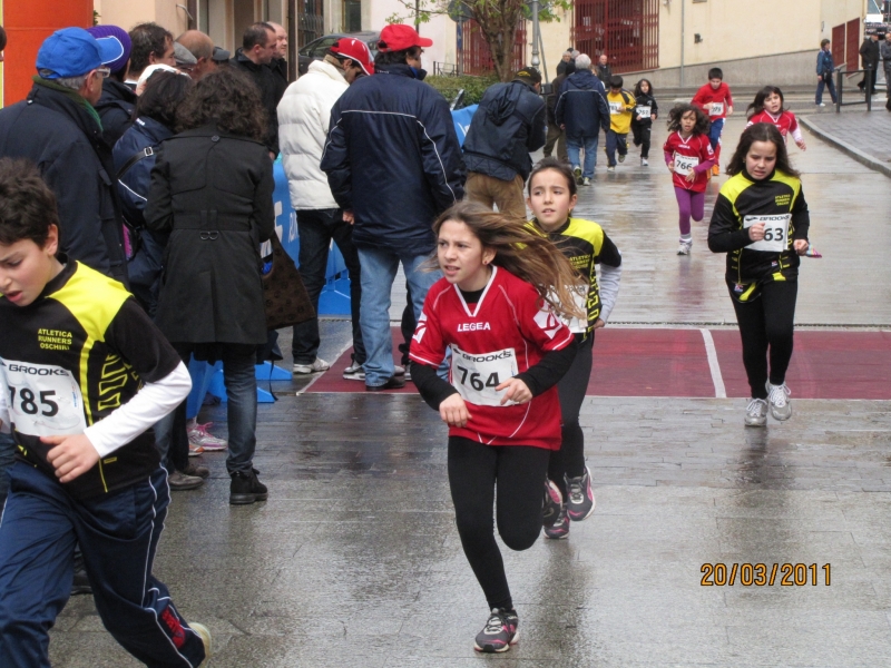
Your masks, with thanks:
<instances>
[{"instance_id":1,"label":"white race bib printed 785 on the boy's chest","mask_svg":"<svg viewBox=\"0 0 891 668\"><path fill-rule=\"evenodd\" d=\"M76 434L87 428L80 386L67 369L0 360L16 430L33 436Z\"/></svg>"}]
</instances>

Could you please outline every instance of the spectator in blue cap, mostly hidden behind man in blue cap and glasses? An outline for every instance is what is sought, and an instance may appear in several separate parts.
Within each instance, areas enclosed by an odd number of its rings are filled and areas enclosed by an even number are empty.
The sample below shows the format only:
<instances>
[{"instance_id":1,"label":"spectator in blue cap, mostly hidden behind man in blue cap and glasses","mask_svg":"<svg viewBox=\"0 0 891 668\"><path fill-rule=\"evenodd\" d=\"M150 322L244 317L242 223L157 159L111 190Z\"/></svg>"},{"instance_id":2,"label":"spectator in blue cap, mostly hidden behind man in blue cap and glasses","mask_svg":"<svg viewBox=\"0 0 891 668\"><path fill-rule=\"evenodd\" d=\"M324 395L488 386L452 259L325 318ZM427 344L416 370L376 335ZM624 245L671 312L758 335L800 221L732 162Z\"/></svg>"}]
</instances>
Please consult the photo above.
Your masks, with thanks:
<instances>
[{"instance_id":1,"label":"spectator in blue cap, mostly hidden behind man in blue cap and glasses","mask_svg":"<svg viewBox=\"0 0 891 668\"><path fill-rule=\"evenodd\" d=\"M111 75L102 84L102 96L96 105L102 121L102 137L108 146L115 146L115 141L133 124L133 110L136 108L136 94L124 84L130 63L130 36L117 26L94 26L87 28L87 32L99 42L108 42L119 53L108 63Z\"/></svg>"}]
</instances>

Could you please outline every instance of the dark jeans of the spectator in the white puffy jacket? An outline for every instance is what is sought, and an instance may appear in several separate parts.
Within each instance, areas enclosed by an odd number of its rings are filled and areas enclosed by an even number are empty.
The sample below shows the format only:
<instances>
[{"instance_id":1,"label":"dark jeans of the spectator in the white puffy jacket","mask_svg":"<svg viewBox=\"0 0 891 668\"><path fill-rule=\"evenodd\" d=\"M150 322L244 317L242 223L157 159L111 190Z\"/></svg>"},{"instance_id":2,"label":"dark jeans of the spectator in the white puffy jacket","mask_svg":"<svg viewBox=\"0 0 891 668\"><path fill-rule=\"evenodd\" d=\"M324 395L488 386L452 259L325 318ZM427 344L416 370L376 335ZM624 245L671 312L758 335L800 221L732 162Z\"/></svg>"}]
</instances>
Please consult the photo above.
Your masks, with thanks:
<instances>
[{"instance_id":1,"label":"dark jeans of the spectator in the white puffy jacket","mask_svg":"<svg viewBox=\"0 0 891 668\"><path fill-rule=\"evenodd\" d=\"M344 223L340 209L313 209L297 212L300 230L300 276L319 313L319 295L325 286L325 269L331 240L337 244L346 271L350 274L350 311L353 321L353 360L365 362L365 345L359 326L359 307L362 303L362 282L359 254L353 245L353 226ZM319 354L319 317L294 325L291 352L294 364L312 364Z\"/></svg>"}]
</instances>

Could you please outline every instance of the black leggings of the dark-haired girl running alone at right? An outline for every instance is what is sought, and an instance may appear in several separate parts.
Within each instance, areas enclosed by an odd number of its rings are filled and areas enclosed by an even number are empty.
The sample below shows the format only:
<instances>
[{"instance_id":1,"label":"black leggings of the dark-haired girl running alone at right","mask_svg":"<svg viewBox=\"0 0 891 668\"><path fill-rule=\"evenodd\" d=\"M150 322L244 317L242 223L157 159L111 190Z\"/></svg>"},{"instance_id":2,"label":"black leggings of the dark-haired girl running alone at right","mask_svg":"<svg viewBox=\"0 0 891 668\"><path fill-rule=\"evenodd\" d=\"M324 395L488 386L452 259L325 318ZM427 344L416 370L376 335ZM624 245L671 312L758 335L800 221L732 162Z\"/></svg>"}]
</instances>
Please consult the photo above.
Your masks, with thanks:
<instances>
[{"instance_id":1,"label":"black leggings of the dark-haired girl running alone at right","mask_svg":"<svg viewBox=\"0 0 891 668\"><path fill-rule=\"evenodd\" d=\"M754 399L767 399L767 348L771 351L770 380L782 385L786 380L789 361L792 358L793 321L797 281L780 281L761 286L761 297L741 304L731 298L743 340L743 364Z\"/></svg>"}]
</instances>

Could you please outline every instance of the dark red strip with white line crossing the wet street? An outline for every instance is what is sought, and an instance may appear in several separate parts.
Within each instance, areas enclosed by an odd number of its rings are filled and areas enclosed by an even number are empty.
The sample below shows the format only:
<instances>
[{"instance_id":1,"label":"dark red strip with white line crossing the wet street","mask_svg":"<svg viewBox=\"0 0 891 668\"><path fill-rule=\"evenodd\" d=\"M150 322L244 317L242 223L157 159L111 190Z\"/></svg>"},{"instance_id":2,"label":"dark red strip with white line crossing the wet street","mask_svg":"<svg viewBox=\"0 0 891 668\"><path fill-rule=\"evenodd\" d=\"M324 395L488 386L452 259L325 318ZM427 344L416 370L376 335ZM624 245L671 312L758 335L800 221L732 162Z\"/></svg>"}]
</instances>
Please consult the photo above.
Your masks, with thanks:
<instances>
[{"instance_id":1,"label":"dark red strip with white line crossing the wet street","mask_svg":"<svg viewBox=\"0 0 891 668\"><path fill-rule=\"evenodd\" d=\"M711 330L727 396L750 396L740 333ZM393 358L400 354L392 328ZM699 330L607 327L598 330L589 396L715 396ZM343 379L352 348L306 392L364 392L365 384ZM793 399L891 399L891 333L796 332L786 375ZM414 385L382 394L414 393Z\"/></svg>"}]
</instances>

